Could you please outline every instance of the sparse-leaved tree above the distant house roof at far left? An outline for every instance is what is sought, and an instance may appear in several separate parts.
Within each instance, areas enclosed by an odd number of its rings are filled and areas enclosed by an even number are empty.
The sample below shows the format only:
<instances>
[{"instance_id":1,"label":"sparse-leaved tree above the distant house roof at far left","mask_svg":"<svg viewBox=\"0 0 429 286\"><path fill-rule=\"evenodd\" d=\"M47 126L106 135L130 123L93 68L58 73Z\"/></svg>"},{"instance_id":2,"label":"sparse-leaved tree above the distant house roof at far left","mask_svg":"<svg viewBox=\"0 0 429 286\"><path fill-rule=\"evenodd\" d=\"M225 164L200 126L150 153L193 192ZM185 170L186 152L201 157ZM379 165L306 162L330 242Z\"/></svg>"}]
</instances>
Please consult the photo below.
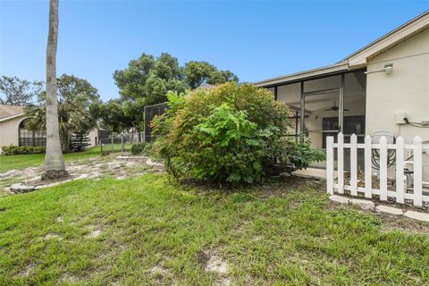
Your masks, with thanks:
<instances>
[{"instance_id":1,"label":"sparse-leaved tree above the distant house roof at far left","mask_svg":"<svg viewBox=\"0 0 429 286\"><path fill-rule=\"evenodd\" d=\"M40 95L43 81L21 80L17 77L0 78L0 104L27 105Z\"/></svg>"}]
</instances>

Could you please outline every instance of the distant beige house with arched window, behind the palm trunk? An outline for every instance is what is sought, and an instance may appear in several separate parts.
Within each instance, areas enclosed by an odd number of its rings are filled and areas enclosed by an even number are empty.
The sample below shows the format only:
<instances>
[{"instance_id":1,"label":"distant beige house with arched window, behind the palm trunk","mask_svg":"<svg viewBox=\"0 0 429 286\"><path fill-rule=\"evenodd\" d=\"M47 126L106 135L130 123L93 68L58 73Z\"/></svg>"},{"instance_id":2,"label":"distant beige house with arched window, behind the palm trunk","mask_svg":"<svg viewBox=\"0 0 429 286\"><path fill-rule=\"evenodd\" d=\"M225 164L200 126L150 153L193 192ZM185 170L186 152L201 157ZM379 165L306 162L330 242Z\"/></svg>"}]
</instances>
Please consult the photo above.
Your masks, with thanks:
<instances>
[{"instance_id":1,"label":"distant beige house with arched window, behind the palm trunk","mask_svg":"<svg viewBox=\"0 0 429 286\"><path fill-rule=\"evenodd\" d=\"M0 105L0 153L1 147L46 145L46 131L25 128L26 115L23 106ZM89 131L90 146L97 145L98 129Z\"/></svg>"}]
</instances>

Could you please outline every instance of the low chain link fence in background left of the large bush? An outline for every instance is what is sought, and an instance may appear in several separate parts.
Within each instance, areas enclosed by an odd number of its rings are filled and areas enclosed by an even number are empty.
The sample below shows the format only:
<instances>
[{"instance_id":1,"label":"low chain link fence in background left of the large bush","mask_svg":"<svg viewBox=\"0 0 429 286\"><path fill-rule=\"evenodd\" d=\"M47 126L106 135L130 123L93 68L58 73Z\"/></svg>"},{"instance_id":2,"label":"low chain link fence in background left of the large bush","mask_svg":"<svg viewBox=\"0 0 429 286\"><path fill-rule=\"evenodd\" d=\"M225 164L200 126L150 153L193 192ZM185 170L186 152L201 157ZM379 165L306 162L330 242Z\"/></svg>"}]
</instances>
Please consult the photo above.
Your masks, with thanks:
<instances>
[{"instance_id":1,"label":"low chain link fence in background left of the large bush","mask_svg":"<svg viewBox=\"0 0 429 286\"><path fill-rule=\"evenodd\" d=\"M140 133L122 134L100 139L101 154L130 152L134 143L141 141Z\"/></svg>"}]
</instances>

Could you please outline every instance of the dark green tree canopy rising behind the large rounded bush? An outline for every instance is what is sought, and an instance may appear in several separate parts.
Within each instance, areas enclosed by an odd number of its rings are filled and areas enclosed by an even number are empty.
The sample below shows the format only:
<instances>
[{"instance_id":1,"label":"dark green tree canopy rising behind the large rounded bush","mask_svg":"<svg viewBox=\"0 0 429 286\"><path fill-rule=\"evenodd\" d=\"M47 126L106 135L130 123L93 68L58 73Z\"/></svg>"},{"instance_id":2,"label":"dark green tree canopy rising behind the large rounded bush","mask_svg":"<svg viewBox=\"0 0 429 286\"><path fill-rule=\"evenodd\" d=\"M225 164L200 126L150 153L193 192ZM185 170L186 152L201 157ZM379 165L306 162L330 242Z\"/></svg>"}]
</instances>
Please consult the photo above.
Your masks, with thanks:
<instances>
[{"instance_id":1,"label":"dark green tree canopy rising behind the large rounded bush","mask_svg":"<svg viewBox=\"0 0 429 286\"><path fill-rule=\"evenodd\" d=\"M158 57L142 54L131 60L126 69L114 71L121 97L105 104L93 104L90 110L114 132L130 128L142 130L144 107L165 102L168 92L181 94L203 83L238 80L231 71L219 71L210 63L192 61L181 66L177 58L167 53Z\"/></svg>"}]
</instances>

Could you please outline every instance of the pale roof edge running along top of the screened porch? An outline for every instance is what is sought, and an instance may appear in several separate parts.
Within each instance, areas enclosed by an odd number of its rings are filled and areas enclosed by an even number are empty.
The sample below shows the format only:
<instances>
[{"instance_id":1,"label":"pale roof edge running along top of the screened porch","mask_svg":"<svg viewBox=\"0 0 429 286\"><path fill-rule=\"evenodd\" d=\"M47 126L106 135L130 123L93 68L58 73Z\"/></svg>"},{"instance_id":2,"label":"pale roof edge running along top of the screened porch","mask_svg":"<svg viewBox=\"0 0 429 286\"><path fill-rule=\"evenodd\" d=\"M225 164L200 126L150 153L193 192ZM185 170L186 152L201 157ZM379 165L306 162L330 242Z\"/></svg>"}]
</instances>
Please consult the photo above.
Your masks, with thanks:
<instances>
[{"instance_id":1,"label":"pale roof edge running along top of the screened porch","mask_svg":"<svg viewBox=\"0 0 429 286\"><path fill-rule=\"evenodd\" d=\"M318 69L300 71L300 72L292 73L282 77L257 81L257 82L254 82L254 84L260 88L270 88L270 87L275 87L282 84L292 83L295 81L309 80L309 79L318 78L325 75L341 73L343 71L349 71L349 64L345 61L341 63L335 63L332 65L324 66Z\"/></svg>"}]
</instances>

